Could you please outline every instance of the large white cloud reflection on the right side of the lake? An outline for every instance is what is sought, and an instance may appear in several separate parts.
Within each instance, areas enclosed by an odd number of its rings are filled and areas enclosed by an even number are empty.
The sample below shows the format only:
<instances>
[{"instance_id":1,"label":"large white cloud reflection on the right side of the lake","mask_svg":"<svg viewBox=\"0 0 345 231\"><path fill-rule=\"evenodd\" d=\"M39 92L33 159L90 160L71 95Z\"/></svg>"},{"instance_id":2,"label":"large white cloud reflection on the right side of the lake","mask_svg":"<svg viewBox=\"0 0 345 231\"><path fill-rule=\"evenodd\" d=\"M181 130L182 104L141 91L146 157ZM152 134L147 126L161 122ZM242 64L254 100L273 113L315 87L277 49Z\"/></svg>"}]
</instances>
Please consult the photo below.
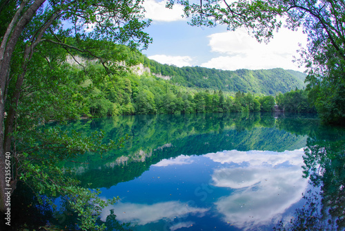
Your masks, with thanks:
<instances>
[{"instance_id":1,"label":"large white cloud reflection on the right side of the lake","mask_svg":"<svg viewBox=\"0 0 345 231\"><path fill-rule=\"evenodd\" d=\"M213 185L235 189L215 202L224 221L250 230L282 219L282 214L302 198L308 180L302 178L303 149L295 151L223 151L207 154L221 164L244 167L215 169Z\"/></svg>"}]
</instances>

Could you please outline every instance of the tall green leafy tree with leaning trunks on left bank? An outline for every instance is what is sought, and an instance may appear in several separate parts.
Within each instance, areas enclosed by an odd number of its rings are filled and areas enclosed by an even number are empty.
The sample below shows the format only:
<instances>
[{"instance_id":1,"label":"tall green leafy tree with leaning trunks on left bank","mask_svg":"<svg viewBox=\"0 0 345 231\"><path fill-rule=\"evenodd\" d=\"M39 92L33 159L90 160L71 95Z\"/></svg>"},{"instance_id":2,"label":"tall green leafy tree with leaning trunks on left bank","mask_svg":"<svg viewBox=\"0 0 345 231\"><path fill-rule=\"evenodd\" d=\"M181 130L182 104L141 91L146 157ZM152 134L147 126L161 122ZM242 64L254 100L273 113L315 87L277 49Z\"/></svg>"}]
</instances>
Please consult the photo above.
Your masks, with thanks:
<instances>
[{"instance_id":1,"label":"tall green leafy tree with leaning trunks on left bank","mask_svg":"<svg viewBox=\"0 0 345 231\"><path fill-rule=\"evenodd\" d=\"M10 178L0 178L2 214L9 209L5 188L11 188L12 193L19 180L31 182L38 188L37 192L48 191L52 195L96 195L77 187L77 182L63 176L54 163L86 150L106 148L97 141L102 140L101 134L93 136L96 141L73 138L73 134L42 130L37 125L48 118L63 120L85 113L80 95L72 91L80 83L80 75L63 75L67 55L75 59L77 54L88 54L97 59L107 75L113 76L122 70L117 64L121 57L117 53L98 53L107 50L99 49L100 46L113 50L115 43L132 48L139 48L140 44L145 48L150 43L143 32L150 21L141 20L140 3L136 0L0 1L0 175L6 176L9 169L12 172ZM90 73L86 71L85 75ZM90 75L90 78L97 83L103 76ZM68 81L70 77L72 81ZM68 102L72 103L68 105ZM66 140L61 140L63 137ZM115 147L115 143L110 141L110 147ZM65 151L53 155L52 149ZM39 158L43 154L46 158ZM57 181L52 183L53 179ZM70 196L70 202L74 203ZM75 204L78 210L77 205L80 204ZM90 221L88 215L91 214L80 216ZM90 227L83 222L81 219L81 228Z\"/></svg>"}]
</instances>

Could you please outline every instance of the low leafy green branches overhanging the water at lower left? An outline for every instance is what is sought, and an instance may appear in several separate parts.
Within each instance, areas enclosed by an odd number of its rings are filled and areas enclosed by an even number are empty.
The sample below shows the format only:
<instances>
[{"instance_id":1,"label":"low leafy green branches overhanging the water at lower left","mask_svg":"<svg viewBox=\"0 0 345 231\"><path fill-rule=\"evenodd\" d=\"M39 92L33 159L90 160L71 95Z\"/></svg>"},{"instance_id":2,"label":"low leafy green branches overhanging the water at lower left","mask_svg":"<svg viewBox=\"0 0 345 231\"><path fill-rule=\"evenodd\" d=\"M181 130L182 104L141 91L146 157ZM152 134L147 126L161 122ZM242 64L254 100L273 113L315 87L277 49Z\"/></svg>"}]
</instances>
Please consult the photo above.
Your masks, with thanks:
<instances>
[{"instance_id":1,"label":"low leafy green branches overhanging the water at lower left","mask_svg":"<svg viewBox=\"0 0 345 231\"><path fill-rule=\"evenodd\" d=\"M57 126L39 127L30 133L18 133L17 136L15 138L21 141L16 143L18 158L14 163L17 165L16 174L19 174L19 180L30 185L37 195L46 194L46 203L53 208L56 206L52 198L59 196L69 210L76 214L78 222L75 223L75 228L104 230L104 225L95 226L97 216L103 207L115 203L117 198L110 201L101 200L98 197L99 190L80 187L79 181L66 174L68 169L59 167L57 163L86 151L116 149L124 141L108 140L98 131L88 136L80 136L77 131L63 131ZM30 138L23 140L21 137ZM40 196L38 199L42 202Z\"/></svg>"}]
</instances>

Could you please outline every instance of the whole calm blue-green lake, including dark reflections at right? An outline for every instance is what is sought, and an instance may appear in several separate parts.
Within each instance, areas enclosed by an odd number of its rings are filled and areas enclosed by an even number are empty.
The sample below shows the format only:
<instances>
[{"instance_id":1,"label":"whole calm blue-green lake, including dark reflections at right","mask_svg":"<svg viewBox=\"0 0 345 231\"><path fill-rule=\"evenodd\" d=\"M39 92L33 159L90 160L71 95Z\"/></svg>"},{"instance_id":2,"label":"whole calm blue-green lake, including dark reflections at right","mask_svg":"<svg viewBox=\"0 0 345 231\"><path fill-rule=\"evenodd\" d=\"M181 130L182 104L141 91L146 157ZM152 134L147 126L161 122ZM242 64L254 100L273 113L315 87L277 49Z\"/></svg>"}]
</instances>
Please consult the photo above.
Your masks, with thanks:
<instances>
[{"instance_id":1,"label":"whole calm blue-green lake, including dark reflections at right","mask_svg":"<svg viewBox=\"0 0 345 231\"><path fill-rule=\"evenodd\" d=\"M119 196L102 221L113 212L132 230L344 230L345 130L315 115L131 115L66 129L128 135L121 149L61 163L101 198Z\"/></svg>"}]
</instances>

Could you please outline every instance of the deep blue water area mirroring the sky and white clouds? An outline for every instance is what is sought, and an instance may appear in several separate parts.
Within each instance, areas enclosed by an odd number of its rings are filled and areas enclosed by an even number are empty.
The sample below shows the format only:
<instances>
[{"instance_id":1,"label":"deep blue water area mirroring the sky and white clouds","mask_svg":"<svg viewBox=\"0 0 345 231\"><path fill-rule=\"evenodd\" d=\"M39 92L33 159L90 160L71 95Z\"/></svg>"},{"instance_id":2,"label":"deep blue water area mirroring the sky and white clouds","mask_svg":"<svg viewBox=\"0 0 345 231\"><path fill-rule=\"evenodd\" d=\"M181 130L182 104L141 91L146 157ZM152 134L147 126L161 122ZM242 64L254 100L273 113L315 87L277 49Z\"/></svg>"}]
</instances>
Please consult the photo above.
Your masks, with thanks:
<instances>
[{"instance_id":1,"label":"deep blue water area mirroring the sky and white clouds","mask_svg":"<svg viewBox=\"0 0 345 231\"><path fill-rule=\"evenodd\" d=\"M151 165L132 181L102 188L119 196L117 219L134 230L271 230L293 216L308 180L303 149L219 151L177 156Z\"/></svg>"}]
</instances>

